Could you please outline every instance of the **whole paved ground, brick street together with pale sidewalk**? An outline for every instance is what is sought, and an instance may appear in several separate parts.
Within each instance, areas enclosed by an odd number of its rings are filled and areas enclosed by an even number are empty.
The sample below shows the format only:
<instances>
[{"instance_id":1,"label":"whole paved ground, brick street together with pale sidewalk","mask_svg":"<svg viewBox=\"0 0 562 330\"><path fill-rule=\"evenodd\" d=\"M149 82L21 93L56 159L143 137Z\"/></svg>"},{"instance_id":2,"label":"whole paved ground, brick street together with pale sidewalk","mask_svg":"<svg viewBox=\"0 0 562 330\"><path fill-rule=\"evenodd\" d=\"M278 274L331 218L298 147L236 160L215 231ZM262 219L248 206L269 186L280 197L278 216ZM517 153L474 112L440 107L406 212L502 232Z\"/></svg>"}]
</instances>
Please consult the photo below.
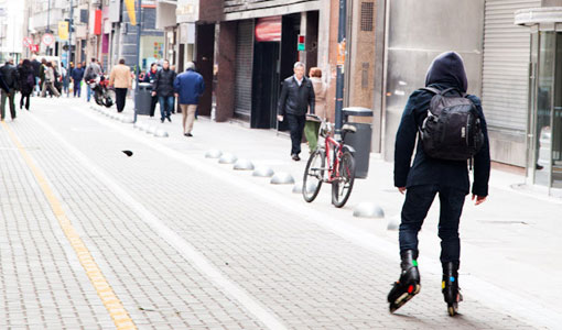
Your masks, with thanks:
<instances>
[{"instance_id":1,"label":"whole paved ground, brick street together with pale sidewalk","mask_svg":"<svg viewBox=\"0 0 562 330\"><path fill-rule=\"evenodd\" d=\"M422 290L390 315L391 164L374 156L335 209L328 186L306 204L204 157L301 180L283 134L201 118L187 139L181 114L140 118L170 133L155 138L84 99L31 103L0 125L0 329L562 329L562 200L514 188L519 175L494 170L489 200L467 199L461 315L440 292L439 202L420 233ZM385 219L354 218L363 201Z\"/></svg>"}]
</instances>

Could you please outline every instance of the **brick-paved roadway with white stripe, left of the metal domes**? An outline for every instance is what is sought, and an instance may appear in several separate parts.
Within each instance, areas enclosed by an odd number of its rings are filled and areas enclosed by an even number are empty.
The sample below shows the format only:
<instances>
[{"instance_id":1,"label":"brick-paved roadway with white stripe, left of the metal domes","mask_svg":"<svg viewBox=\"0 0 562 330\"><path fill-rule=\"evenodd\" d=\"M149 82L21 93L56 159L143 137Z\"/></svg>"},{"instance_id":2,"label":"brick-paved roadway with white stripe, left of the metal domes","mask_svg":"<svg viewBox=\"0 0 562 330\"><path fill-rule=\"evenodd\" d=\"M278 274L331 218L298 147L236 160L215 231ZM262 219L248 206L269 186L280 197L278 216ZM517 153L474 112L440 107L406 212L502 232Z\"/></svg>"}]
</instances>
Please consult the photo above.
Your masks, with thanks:
<instances>
[{"instance_id":1,"label":"brick-paved roadway with white stripe, left of the metal domes","mask_svg":"<svg viewBox=\"0 0 562 330\"><path fill-rule=\"evenodd\" d=\"M471 293L450 318L429 257L421 294L390 315L396 244L358 243L338 213L227 172L201 145L65 99L32 103L0 129L0 329L116 328L23 153L138 329L542 328L516 302L490 308Z\"/></svg>"}]
</instances>

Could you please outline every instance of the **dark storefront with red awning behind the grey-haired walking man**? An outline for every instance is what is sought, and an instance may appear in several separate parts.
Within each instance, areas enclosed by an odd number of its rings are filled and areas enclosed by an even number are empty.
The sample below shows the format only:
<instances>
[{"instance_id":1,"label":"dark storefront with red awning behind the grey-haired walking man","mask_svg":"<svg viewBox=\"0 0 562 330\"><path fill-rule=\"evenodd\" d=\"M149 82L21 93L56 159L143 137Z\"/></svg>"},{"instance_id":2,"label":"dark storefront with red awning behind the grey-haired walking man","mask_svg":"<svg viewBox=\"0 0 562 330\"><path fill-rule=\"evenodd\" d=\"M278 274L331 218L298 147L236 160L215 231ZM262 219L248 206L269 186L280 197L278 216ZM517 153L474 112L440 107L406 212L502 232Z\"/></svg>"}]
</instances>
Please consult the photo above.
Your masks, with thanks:
<instances>
[{"instance_id":1,"label":"dark storefront with red awning behind the grey-haired walking man","mask_svg":"<svg viewBox=\"0 0 562 330\"><path fill-rule=\"evenodd\" d=\"M207 19L206 23L197 24L195 47L198 66L206 67L208 79L215 81L218 91L216 120L234 118L251 128L285 130L285 123L277 121L278 97L282 80L293 74L293 64L300 61L306 72L311 67L322 69L328 87L328 119L333 121L339 1L224 1L221 8L219 4L219 1L206 4L205 10L220 12L214 46L209 44L213 26L208 26ZM345 105L371 108L377 6L375 1L350 0L347 12ZM299 36L304 37L301 50Z\"/></svg>"}]
</instances>

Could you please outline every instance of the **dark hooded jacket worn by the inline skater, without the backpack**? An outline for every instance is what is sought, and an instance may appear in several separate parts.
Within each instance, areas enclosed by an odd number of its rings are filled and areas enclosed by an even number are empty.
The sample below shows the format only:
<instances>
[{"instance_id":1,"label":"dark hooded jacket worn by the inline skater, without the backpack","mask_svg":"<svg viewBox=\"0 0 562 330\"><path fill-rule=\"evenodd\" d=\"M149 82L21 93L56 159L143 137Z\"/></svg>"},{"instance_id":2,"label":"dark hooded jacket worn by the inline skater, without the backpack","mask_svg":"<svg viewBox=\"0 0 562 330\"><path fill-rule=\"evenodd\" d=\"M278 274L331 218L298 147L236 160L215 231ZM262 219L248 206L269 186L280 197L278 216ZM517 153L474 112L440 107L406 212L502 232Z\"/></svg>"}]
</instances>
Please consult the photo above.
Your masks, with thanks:
<instances>
[{"instance_id":1,"label":"dark hooded jacket worn by the inline skater, without the backpack","mask_svg":"<svg viewBox=\"0 0 562 330\"><path fill-rule=\"evenodd\" d=\"M440 90L453 87L458 90L458 95L465 94L468 82L461 56L454 52L447 52L435 57L428 70L425 86ZM409 188L421 185L439 185L454 187L468 194L471 183L466 161L431 158L423 152L421 143L418 143L415 158L413 165L411 165L418 131L428 116L432 97L433 94L429 91L417 90L408 99L396 136L395 186ZM472 95L467 98L473 101L480 114L482 130L485 136L484 146L474 156L472 193L484 197L488 195L490 172L488 132L480 100Z\"/></svg>"}]
</instances>

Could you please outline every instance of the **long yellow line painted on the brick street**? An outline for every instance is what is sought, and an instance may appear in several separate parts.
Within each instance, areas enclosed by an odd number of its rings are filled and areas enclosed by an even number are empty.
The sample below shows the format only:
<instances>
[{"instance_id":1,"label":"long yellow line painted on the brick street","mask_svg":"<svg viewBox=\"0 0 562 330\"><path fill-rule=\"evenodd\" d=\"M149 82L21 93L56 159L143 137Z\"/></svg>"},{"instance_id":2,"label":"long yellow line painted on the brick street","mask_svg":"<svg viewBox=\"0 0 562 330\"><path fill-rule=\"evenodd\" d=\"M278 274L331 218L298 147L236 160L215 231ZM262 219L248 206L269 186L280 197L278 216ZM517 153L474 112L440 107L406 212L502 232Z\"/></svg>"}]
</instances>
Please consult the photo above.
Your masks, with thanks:
<instances>
[{"instance_id":1,"label":"long yellow line painted on the brick street","mask_svg":"<svg viewBox=\"0 0 562 330\"><path fill-rule=\"evenodd\" d=\"M76 232L76 229L73 227L71 220L68 220L68 218L66 217L66 213L63 210L61 201L58 201L55 194L53 193L53 189L51 189L51 187L48 186L48 183L46 182L42 172L35 165L35 162L33 162L32 157L28 154L25 148L23 148L22 144L18 140L18 136L15 136L15 133L10 129L10 127L6 122L2 122L2 125L4 127L10 138L12 139L12 142L20 151L23 160L25 161L31 172L33 173L33 176L37 180L37 184L41 187L41 190L43 190L43 194L45 195L48 204L51 205L51 209L53 210L53 213L58 220L58 224L63 229L66 239L71 243L71 246L74 249L74 252L76 252L78 261L86 271L86 275L88 276L94 288L96 289L99 298L101 299L101 302L109 312L109 316L114 320L116 329L118 330L137 329L137 326L134 326L134 322L131 320L131 317L125 309L123 305L121 304L121 300L117 298L117 295L115 294L114 289L111 288L106 277L99 270L99 266L91 256L88 248Z\"/></svg>"}]
</instances>

